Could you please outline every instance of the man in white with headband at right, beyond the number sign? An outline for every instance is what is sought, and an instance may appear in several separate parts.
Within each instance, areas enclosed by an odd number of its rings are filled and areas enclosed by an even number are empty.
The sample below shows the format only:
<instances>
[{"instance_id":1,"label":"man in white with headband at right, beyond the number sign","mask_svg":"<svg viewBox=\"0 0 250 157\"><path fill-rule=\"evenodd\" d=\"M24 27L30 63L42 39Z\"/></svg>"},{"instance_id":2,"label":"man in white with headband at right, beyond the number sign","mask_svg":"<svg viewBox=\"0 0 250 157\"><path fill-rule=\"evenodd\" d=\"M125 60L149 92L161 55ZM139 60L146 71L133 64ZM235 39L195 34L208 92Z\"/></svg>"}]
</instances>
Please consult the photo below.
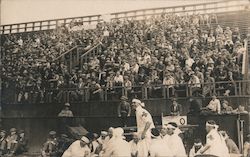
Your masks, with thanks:
<instances>
[{"instance_id":1,"label":"man in white with headband at right, beyond the number sign","mask_svg":"<svg viewBox=\"0 0 250 157\"><path fill-rule=\"evenodd\" d=\"M215 121L209 120L206 123L206 145L199 150L200 154L214 155L218 157L229 157L229 151L224 138L218 132L218 125Z\"/></svg>"}]
</instances>

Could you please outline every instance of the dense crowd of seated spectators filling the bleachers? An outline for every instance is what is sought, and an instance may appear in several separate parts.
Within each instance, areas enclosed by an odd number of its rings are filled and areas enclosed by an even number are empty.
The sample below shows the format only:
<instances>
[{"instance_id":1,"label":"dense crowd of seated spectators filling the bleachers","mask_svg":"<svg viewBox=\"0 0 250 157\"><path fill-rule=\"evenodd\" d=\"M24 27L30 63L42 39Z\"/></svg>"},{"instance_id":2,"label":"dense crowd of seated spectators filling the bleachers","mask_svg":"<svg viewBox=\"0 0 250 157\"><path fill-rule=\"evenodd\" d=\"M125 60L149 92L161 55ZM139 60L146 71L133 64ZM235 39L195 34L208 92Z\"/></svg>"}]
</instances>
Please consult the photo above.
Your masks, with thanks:
<instances>
[{"instance_id":1,"label":"dense crowd of seated spectators filling the bleachers","mask_svg":"<svg viewBox=\"0 0 250 157\"><path fill-rule=\"evenodd\" d=\"M118 98L140 92L164 97L163 89L169 96L180 90L207 96L215 88L219 95L233 95L235 81L242 79L244 39L239 28L215 25L216 15L162 14L115 19L91 30L74 21L53 31L7 35L2 44L3 89L14 86L19 102L34 94L34 101L46 95L61 100L61 89L74 89L68 91L72 100L103 100L104 91ZM102 54L71 72L54 62L75 45L91 47L99 41ZM215 85L220 81L229 82Z\"/></svg>"}]
</instances>

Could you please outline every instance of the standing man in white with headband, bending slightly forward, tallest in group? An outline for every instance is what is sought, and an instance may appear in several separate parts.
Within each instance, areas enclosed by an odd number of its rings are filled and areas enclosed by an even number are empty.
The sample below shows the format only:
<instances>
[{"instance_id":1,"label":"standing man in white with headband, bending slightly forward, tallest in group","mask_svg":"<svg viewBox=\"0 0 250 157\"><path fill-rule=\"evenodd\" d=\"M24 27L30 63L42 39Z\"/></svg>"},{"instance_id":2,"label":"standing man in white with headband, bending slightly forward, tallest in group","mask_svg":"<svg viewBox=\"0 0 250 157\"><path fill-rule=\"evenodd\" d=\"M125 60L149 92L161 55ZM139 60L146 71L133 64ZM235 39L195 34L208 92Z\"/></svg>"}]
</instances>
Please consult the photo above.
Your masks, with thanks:
<instances>
[{"instance_id":1,"label":"standing man in white with headband, bending slightly forward, tallest in group","mask_svg":"<svg viewBox=\"0 0 250 157\"><path fill-rule=\"evenodd\" d=\"M151 141L151 129L155 128L152 116L145 110L144 103L139 99L132 100L132 108L135 110L137 132L139 138L141 139L141 144L143 148L142 156L148 156L149 144Z\"/></svg>"}]
</instances>

